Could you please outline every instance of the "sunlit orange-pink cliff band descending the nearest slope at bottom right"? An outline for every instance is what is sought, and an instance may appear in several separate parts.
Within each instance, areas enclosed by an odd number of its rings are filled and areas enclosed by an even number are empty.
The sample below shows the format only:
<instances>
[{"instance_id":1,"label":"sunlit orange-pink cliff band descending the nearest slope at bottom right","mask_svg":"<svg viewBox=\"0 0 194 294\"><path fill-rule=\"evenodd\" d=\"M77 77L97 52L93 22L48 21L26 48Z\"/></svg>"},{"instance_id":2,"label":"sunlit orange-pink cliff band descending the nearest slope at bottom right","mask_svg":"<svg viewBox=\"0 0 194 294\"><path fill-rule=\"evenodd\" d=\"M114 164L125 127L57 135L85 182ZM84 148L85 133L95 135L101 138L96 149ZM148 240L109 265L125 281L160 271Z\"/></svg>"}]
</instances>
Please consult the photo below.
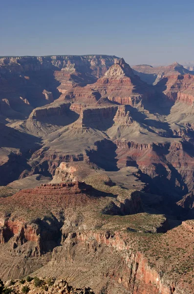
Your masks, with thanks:
<instances>
[{"instance_id":1,"label":"sunlit orange-pink cliff band descending the nearest slope at bottom right","mask_svg":"<svg viewBox=\"0 0 194 294\"><path fill-rule=\"evenodd\" d=\"M171 285L165 285L160 274L151 269L148 260L140 252L132 252L130 246L121 238L119 232L93 233L83 232L77 234L77 239L87 244L94 239L99 245L107 245L122 255L123 271L114 273L115 282L122 284L126 291L133 294L172 294L175 291L173 281ZM175 292L179 293L179 292Z\"/></svg>"}]
</instances>

